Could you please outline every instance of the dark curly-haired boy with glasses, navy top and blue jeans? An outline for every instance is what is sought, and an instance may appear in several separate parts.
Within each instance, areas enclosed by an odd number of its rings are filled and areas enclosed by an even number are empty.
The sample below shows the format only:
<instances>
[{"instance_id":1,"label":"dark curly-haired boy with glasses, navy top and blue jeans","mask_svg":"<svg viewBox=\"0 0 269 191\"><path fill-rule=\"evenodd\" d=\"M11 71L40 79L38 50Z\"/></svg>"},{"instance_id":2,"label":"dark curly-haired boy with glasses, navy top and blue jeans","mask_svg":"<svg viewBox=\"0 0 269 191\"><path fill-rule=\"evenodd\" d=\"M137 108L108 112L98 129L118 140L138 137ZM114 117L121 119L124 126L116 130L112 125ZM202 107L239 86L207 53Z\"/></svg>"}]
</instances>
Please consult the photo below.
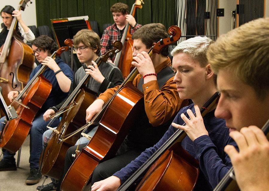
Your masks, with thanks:
<instances>
[{"instance_id":1,"label":"dark curly-haired boy with glasses, navy top and blue jeans","mask_svg":"<svg viewBox=\"0 0 269 191\"><path fill-rule=\"evenodd\" d=\"M74 79L71 68L65 64L62 59L51 58L52 53L57 50L57 45L52 38L42 35L32 42L32 49L34 56L41 63L30 74L29 81L38 72L42 65L46 65L42 75L50 81L52 89L45 103L36 113L35 118L30 128L30 176L26 179L26 184L36 184L41 178L39 172L39 156L42 152L42 134L47 130L48 121L44 121L43 114L49 108L59 104L70 90L71 83ZM11 91L8 93L8 98L12 101L19 95L18 91ZM0 121L4 121L1 118ZM53 125L57 126L59 120L55 120ZM0 129L4 124L0 123ZM15 153L10 153L3 149L3 159L0 161L0 171L16 170Z\"/></svg>"}]
</instances>

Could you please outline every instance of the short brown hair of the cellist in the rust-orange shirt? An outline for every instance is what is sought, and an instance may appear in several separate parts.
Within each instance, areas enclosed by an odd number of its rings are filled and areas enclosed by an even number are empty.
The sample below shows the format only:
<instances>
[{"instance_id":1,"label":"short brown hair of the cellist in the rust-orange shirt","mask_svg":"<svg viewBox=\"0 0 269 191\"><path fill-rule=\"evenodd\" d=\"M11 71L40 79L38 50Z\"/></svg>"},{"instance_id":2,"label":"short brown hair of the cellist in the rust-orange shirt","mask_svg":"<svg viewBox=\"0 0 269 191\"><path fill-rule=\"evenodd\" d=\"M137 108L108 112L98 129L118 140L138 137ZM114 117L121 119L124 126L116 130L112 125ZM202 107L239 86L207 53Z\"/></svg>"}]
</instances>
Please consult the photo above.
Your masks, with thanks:
<instances>
[{"instance_id":1,"label":"short brown hair of the cellist in the rust-orange shirt","mask_svg":"<svg viewBox=\"0 0 269 191\"><path fill-rule=\"evenodd\" d=\"M161 38L167 37L166 28L161 23L146 24L137 29L132 35L133 40L140 39L146 45L147 49L151 48L154 42L157 43ZM161 54L163 56L169 55L168 46L163 47Z\"/></svg>"}]
</instances>

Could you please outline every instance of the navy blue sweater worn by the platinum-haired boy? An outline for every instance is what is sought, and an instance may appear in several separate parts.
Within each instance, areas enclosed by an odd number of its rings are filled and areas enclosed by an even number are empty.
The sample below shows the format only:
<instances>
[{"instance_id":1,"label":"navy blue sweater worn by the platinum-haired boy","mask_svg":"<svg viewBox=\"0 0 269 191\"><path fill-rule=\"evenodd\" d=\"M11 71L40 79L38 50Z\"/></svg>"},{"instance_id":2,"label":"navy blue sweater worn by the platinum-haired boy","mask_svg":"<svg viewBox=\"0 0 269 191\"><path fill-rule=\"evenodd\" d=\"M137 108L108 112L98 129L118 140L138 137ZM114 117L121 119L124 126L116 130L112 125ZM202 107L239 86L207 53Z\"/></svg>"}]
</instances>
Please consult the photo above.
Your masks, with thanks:
<instances>
[{"instance_id":1,"label":"navy blue sweater worn by the platinum-haired boy","mask_svg":"<svg viewBox=\"0 0 269 191\"><path fill-rule=\"evenodd\" d=\"M184 124L180 114L185 113L188 116L187 109L194 112L194 104L182 108L173 122ZM200 173L194 190L213 190L232 166L229 156L224 152L224 147L227 144L236 146L236 143L230 138L229 129L225 126L224 119L215 118L214 111L207 113L203 119L209 136L202 135L194 141L187 136L183 139L181 146L199 161ZM176 130L170 125L157 144L146 149L126 167L116 172L114 176L120 178L123 184Z\"/></svg>"}]
</instances>

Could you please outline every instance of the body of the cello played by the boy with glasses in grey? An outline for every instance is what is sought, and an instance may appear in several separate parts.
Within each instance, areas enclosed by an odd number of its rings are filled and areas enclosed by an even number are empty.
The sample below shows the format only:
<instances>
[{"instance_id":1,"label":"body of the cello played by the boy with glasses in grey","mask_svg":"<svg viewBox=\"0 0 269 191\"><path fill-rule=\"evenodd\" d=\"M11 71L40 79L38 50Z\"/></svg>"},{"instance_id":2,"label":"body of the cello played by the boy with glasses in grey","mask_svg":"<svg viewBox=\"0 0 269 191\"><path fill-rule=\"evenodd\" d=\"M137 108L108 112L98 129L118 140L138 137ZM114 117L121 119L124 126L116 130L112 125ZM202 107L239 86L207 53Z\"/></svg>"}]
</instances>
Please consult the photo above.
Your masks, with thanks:
<instances>
[{"instance_id":1,"label":"body of the cello played by the boy with glasses in grey","mask_svg":"<svg viewBox=\"0 0 269 191\"><path fill-rule=\"evenodd\" d=\"M65 134L77 130L86 123L85 111L88 108L88 105L90 105L96 98L97 96L91 90L85 91L84 89L80 89L71 101L71 103L76 102L77 105L63 114L62 120L56 128L60 133L52 133L47 141L48 145L42 153L44 157L40 171L43 175L58 180L61 178L65 153L71 146L75 145L79 139L79 134L76 134L63 142L59 142L58 139Z\"/></svg>"}]
</instances>

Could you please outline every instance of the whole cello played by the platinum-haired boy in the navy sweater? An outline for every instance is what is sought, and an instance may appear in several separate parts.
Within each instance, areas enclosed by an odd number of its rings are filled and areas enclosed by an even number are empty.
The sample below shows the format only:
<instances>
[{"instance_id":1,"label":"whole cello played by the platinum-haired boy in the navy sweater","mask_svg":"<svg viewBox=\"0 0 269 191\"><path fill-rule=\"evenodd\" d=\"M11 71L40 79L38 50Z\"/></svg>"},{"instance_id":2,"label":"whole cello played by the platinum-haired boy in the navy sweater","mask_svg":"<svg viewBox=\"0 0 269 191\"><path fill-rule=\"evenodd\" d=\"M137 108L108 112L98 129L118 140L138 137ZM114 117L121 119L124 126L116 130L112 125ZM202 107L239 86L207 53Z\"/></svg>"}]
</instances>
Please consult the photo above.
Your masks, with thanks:
<instances>
[{"instance_id":1,"label":"whole cello played by the platinum-haired boy in the navy sweater","mask_svg":"<svg viewBox=\"0 0 269 191\"><path fill-rule=\"evenodd\" d=\"M216 92L200 108L202 117L216 106L219 95ZM136 191L193 190L198 179L199 164L181 147L181 141L186 136L183 130L178 129L117 191L127 190L151 165Z\"/></svg>"}]
</instances>

